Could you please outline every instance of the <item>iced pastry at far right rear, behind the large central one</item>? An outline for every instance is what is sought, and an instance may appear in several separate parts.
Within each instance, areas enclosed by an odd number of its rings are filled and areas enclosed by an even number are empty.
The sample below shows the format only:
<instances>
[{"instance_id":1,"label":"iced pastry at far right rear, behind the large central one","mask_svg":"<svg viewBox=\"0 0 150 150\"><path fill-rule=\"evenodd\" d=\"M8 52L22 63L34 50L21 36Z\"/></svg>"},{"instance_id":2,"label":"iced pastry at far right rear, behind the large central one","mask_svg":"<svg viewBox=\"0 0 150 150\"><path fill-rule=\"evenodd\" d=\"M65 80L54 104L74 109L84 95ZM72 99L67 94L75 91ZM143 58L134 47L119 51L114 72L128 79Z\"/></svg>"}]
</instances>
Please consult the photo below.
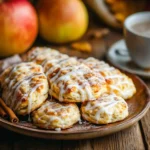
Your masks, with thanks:
<instances>
[{"instance_id":1,"label":"iced pastry at far right rear, behind the large central one","mask_svg":"<svg viewBox=\"0 0 150 150\"><path fill-rule=\"evenodd\" d=\"M129 99L135 94L136 88L132 79L118 69L92 57L81 60L81 62L105 78L109 93L115 93L123 99Z\"/></svg>"}]
</instances>

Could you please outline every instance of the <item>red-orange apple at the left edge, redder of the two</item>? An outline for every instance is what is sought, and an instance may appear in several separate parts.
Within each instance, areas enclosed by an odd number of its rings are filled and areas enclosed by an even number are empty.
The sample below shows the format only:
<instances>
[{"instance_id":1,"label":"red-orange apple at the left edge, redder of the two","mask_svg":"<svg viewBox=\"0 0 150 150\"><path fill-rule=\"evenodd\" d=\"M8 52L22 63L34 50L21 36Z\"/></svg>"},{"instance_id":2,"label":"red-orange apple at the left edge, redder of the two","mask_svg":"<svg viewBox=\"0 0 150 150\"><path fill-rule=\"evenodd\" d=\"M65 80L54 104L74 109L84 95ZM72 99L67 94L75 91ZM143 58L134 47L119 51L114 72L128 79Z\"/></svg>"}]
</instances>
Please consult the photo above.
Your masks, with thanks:
<instances>
[{"instance_id":1,"label":"red-orange apple at the left edge, redder of the two","mask_svg":"<svg viewBox=\"0 0 150 150\"><path fill-rule=\"evenodd\" d=\"M27 0L0 1L0 56L23 53L38 33L37 15Z\"/></svg>"}]
</instances>

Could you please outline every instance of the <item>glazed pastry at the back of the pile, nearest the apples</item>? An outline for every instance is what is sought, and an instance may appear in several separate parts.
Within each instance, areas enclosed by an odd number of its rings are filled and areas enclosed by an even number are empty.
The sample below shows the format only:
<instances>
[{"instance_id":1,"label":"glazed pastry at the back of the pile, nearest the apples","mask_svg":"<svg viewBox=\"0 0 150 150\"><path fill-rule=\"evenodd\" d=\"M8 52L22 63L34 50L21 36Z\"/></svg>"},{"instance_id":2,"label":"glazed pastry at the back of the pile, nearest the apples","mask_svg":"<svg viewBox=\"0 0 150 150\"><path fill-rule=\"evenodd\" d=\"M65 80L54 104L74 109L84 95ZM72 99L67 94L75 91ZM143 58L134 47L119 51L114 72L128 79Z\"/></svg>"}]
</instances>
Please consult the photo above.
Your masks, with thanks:
<instances>
[{"instance_id":1,"label":"glazed pastry at the back of the pile, nearest the apples","mask_svg":"<svg viewBox=\"0 0 150 150\"><path fill-rule=\"evenodd\" d=\"M32 61L44 66L47 61L63 60L68 57L68 55L61 54L57 50L48 47L34 47L28 52L25 61Z\"/></svg>"}]
</instances>

